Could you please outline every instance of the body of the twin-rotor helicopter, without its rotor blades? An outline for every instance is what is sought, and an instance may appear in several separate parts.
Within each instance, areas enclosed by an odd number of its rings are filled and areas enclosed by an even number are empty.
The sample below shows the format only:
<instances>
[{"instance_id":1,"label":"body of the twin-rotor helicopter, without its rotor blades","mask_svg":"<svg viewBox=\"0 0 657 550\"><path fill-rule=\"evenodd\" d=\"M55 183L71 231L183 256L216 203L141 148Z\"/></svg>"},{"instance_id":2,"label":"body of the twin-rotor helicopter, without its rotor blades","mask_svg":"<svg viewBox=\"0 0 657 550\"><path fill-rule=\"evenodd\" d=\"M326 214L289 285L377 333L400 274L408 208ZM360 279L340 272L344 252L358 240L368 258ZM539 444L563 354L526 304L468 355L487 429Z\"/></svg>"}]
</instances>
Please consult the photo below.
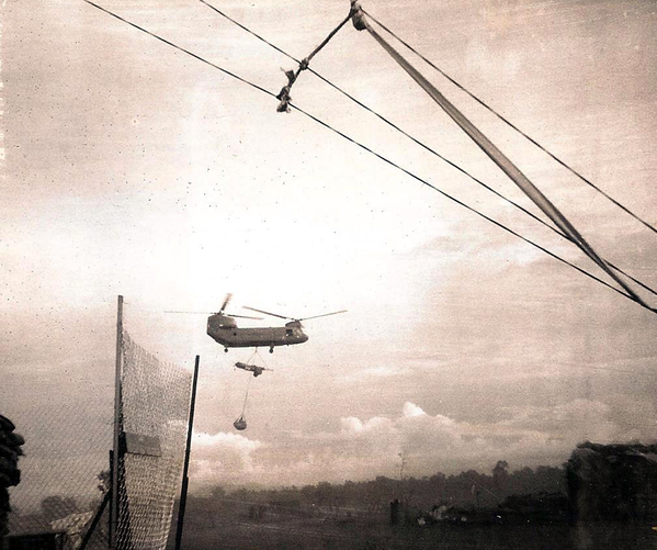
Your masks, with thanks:
<instances>
[{"instance_id":1,"label":"body of the twin-rotor helicopter, without its rotor blades","mask_svg":"<svg viewBox=\"0 0 657 550\"><path fill-rule=\"evenodd\" d=\"M276 346L292 346L308 340L301 324L294 321L282 327L239 328L233 317L220 314L207 318L207 335L226 350L269 347L271 351Z\"/></svg>"}]
</instances>

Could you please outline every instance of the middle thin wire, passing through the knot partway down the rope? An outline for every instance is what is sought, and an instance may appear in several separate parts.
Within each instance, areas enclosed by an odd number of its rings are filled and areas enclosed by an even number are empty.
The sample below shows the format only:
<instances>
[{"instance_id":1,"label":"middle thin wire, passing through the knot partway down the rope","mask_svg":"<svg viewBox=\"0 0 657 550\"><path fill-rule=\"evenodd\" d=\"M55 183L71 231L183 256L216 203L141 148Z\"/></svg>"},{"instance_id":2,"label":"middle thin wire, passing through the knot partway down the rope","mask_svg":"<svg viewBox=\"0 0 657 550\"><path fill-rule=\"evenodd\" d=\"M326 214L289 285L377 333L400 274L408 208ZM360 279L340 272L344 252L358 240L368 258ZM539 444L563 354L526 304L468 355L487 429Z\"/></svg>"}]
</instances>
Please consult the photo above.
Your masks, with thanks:
<instances>
[{"instance_id":1,"label":"middle thin wire, passing through the knot partway down the rope","mask_svg":"<svg viewBox=\"0 0 657 550\"><path fill-rule=\"evenodd\" d=\"M296 64L298 64L299 66L302 65L303 61L299 61L296 57L294 57L293 55L288 54L287 52L285 52L284 49L280 48L279 46L276 46L274 43L272 43L271 41L268 41L267 38L260 36L258 33L251 31L249 27L242 25L239 21L235 20L234 18L227 15L225 12L223 12L222 10L219 10L218 8L216 8L215 5L206 2L205 0L199 0L201 3L207 5L209 9L212 9L213 11L215 11L216 13L218 13L219 15L222 15L223 18L225 18L227 21L229 21L230 23L239 26L241 30L243 30L245 32L249 33L250 35L254 36L256 38L258 38L259 41L261 41L262 43L267 44L268 46L270 46L271 48L275 49L276 52L279 52L280 54L283 54L284 56L288 57L290 59L292 59L293 61L295 61ZM363 10L364 12L364 10ZM376 22L377 24L381 25L381 23ZM341 26L341 25L340 25ZM384 30L387 30L386 27L384 27L383 25L381 25ZM419 145L420 147L422 147L424 150L431 153L432 155L434 155L435 157L440 158L443 162L448 164L449 166L451 166L452 168L458 170L461 173L463 173L464 176L466 176L467 178L469 178L471 180L473 180L474 182L478 183L479 186L482 186L484 189L488 190L489 192L494 193L496 197L500 198L501 200L506 201L507 203L511 204L512 206L517 207L518 210L520 210L521 212L523 212L524 214L526 214L528 216L532 217L535 222L539 222L540 224L544 225L545 227L547 227L548 229L553 231L554 233L556 233L557 235L559 235L562 238L565 238L566 240L568 240L569 243L573 243L573 239L565 233L563 233L562 231L559 231L558 228L554 227L552 224L547 223L545 220L539 217L536 214L534 214L533 212L531 212L530 210L525 209L524 206L522 206L521 204L512 201L511 199L509 199L508 197L506 197L505 194L500 193L499 191L497 191L495 188L488 186L487 183L485 183L484 181L482 181L480 179L478 179L477 177L473 176L471 172L468 172L467 170L465 170L463 167L458 166L456 162L454 162L453 160L450 160L449 158L446 158L445 156L441 155L440 153L438 153L435 149L433 149L432 147L430 147L429 145L424 144L423 142L421 142L420 139L418 139L417 137L412 136L411 134L409 134L407 131L405 131L404 128L399 127L397 124L395 124L394 122L389 121L388 119L386 119L385 116L383 116L382 114L380 114L378 112L374 111L371 106L366 105L365 103L363 103L362 101L360 101L359 99L354 98L353 96L351 96L349 92L347 92L346 90L343 90L342 88L340 88L339 86L335 85L333 82L331 82L330 80L328 80L326 77L324 77L322 75L320 75L319 72L317 72L316 70L314 70L311 67L306 66L306 69L311 72L313 75L315 75L317 78L319 78L320 80L322 80L325 83L327 83L328 86L330 86L331 88L333 88L335 90L337 90L338 92L342 93L346 98L348 98L349 100L351 100L352 102L354 102L355 104L358 104L359 106L361 106L362 109L364 109L365 111L372 113L374 116L376 116L377 119L380 119L382 122L385 122L388 126L390 126L392 128L396 130L397 132L399 132L400 134L403 134L404 136L406 136L407 138L409 138L411 142L414 142L415 144ZM438 69L440 70L440 69ZM648 292L652 292L653 294L657 295L657 291L655 291L654 289L652 289L650 287L648 287L647 284L643 283L642 281L639 281L638 279L635 279L634 277L632 277L631 274L628 274L626 271L624 271L623 269L621 269L620 267L615 266L614 263L612 263L609 260L605 260L607 263L609 265L609 267L611 267L612 269L614 269L615 271L618 271L619 273L622 273L623 276L625 276L627 279L632 280L634 283L638 284L639 287L642 287L643 289L647 290Z\"/></svg>"}]
</instances>

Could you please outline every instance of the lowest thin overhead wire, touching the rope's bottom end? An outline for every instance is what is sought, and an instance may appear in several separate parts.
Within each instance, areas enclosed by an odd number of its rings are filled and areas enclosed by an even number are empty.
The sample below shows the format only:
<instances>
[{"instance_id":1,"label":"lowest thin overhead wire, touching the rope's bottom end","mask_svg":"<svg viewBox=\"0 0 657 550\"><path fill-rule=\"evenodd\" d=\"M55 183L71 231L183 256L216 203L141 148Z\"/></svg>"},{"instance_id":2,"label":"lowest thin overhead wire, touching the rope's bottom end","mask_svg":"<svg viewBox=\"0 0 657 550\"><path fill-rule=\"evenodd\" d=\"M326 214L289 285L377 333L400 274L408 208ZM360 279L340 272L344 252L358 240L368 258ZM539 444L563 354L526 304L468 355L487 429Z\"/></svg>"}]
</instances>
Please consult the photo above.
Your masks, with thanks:
<instances>
[{"instance_id":1,"label":"lowest thin overhead wire, touching the rope's bottom end","mask_svg":"<svg viewBox=\"0 0 657 550\"><path fill-rule=\"evenodd\" d=\"M270 92L269 90L267 90L267 89L264 89L264 88L262 88L262 87L260 87L260 86L258 86L258 85L256 85L256 83L253 83L253 82L251 82L251 81L247 80L246 78L242 78L242 77L240 77L240 76L238 76L238 75L236 75L236 74L234 74L234 72L231 72L231 71L229 71L229 70L226 70L226 69L224 69L223 67L219 67L218 65L216 65L216 64L214 64L214 63L212 63L212 61L209 61L209 60L207 60L207 59L205 59L205 58L201 57L200 55L196 55L196 54L194 54L193 52L190 52L189 49L185 49L185 48L183 48L183 47L181 47L181 46L179 46L179 45L177 45L177 44L174 44L174 43L172 43L172 42L170 42L170 41L168 41L168 40L166 40L166 38L162 38L161 36L159 36L159 35L157 35L157 34L155 34L155 33L152 33L152 32L150 32L150 31L148 31L148 30L146 30L146 29L144 29L144 27L141 27L141 26L139 26L139 25L137 25L137 24L135 24L135 23L133 23L133 22L131 22L131 21L128 21L128 20L126 20L126 19L124 19L124 18L122 18L122 16L120 16L120 15L115 14L115 13L113 13L112 11L110 11L110 10L107 10L107 9L105 9L105 8L102 8L101 5L98 5L97 3L92 2L91 0L83 0L83 1L84 1L84 2L87 2L87 3L88 3L88 4L90 4L90 5L93 5L94 8L97 8L97 9L99 9L99 10L101 10L101 11L103 11L103 12L107 13L109 15L112 15L113 18L117 19L118 21L122 21L122 22L124 22L124 23L126 23L126 24L131 25L132 27L134 27L134 29L137 29L138 31L140 31L140 32L143 32L143 33L145 33L145 34L148 34L149 36L152 36L154 38L156 38L156 40L158 40L158 41L162 42L163 44L167 44L168 46L170 46L170 47L173 47L174 49L178 49L178 50L180 50L180 52L183 52L184 54L186 54L186 55L189 55L189 56L191 56L191 57L193 57L193 58L195 58L195 59L197 59L197 60L200 60L200 61L204 63L205 65L208 65L209 67L213 67L213 68L215 68L215 69L217 69L217 70L222 71L223 74L225 74L225 75L228 75L228 76L230 76L230 77L235 78L236 80L238 80L238 81L240 81L240 82L242 82L242 83L246 83L247 86L250 86L251 88L253 88L253 89L257 89L257 90L259 90L259 91L261 91L261 92L265 93L267 96L270 96L270 97L272 97L272 98L276 98L276 96L275 96L274 93ZM498 226L498 227L500 227L500 228L505 229L506 232L510 233L511 235L514 235L516 237L518 237L518 238L520 238L520 239L524 240L525 243L528 243L528 244L532 245L533 247L537 248L539 250L542 250L542 251L543 251L543 252L545 252L546 255L548 255L548 256L553 257L554 259L556 259L556 260L558 260L558 261L560 261L560 262L563 262L563 263L565 263L565 265L567 265L567 266L569 266L569 267L571 267L573 269L575 269L575 270L579 271L580 273L582 273L582 274L585 274L585 276L589 277L590 279L592 279L592 280L594 280L594 281L597 281L597 282L599 282L600 284L603 284L604 287L607 287L607 288L609 288L609 289L611 289L611 290L613 290L613 291L618 292L618 293L619 293L619 294L621 294L622 296L624 296L624 298L626 298L626 299L628 299L628 300L632 300L632 301L633 301L633 302L635 302L635 303L638 303L638 302L636 302L636 301L635 301L635 300L634 300L634 299L633 299L633 298L632 298L630 294L626 294L626 293L624 293L623 291L621 291L621 290L616 289L615 287L613 287L613 285L609 284L607 281L604 281L604 280L600 279L599 277L597 277L597 276L594 276L594 274L590 273L589 271L587 271L587 270L585 270L585 269L582 269L582 268L580 268L580 267L576 266L575 263L573 263L573 262L570 262L570 261L566 260L565 258L562 258L562 257L560 257L560 256L558 256L557 254L555 254L555 252L552 252L552 251L551 251L551 250L548 250L547 248L545 248L545 247L543 247L543 246L539 245L537 243L534 243L533 240L531 240L531 239L529 239L529 238L526 238L526 237L524 237L524 236L520 235L520 234L519 234L519 233L517 233L516 231L513 231L513 229L511 229L511 228L507 227L507 226L506 226L506 225L503 225L502 223L500 223L500 222L498 222L498 221L494 220L492 217L489 217L489 216L487 216L486 214L483 214L482 212L477 211L477 210L476 210L476 209L474 209L473 206L469 206L469 205L468 205L468 204L466 204L465 202L463 202L463 201L461 201L461 200L458 200L458 199L456 199L456 198L452 197L451 194L446 193L445 191L442 191L441 189L437 188L435 186L433 186L433 184L432 184L432 183L430 183L429 181L427 181L427 180L424 180L424 179L420 178L419 176L417 176L417 175L412 173L411 171L407 170L406 168L404 168L404 167L401 167L401 166L397 165L396 162L394 162L394 161L389 160L388 158L384 157L383 155L381 155L381 154L378 154L378 153L374 151L373 149L371 149L371 148L369 148L367 146L365 146L365 145L361 144L360 142L355 141L354 138L352 138L352 137L348 136L347 134L344 134L344 133L340 132L339 130L336 130L336 128L333 128L333 127L332 127L331 125L329 125L328 123L326 123L326 122L321 121L320 119L318 119L318 117L314 116L313 114L308 113L307 111L304 111L302 108L299 108L299 106L297 106L297 105L295 105L295 104L292 104L292 103L290 103L290 106L291 106L291 108L293 108L294 110L298 111L299 113L302 113L302 114L306 115L307 117L309 117L310 120L315 121L316 123L320 124L321 126L326 127L327 130L330 130L331 132L333 132L333 133L338 134L339 136L343 137L343 138L344 138L344 139L347 139L348 142L350 142L350 143L352 143L352 144L354 144L354 145L359 146L360 148L362 148L362 149L366 150L367 153L370 153L370 154L374 155L375 157L380 158L380 159L381 159L381 160L383 160L384 162L386 162L386 164L388 164L388 165L390 165L390 166L393 166L393 167L397 168L398 170L400 170L400 171L403 171L404 173L406 173L406 175L410 176L411 178L414 178L415 180L417 180L417 181L421 182L422 184L424 184L424 186L429 187L430 189L433 189L434 191L439 192L440 194L442 194L443 197L445 197L445 198L450 199L451 201L455 202L456 204L460 204L461 206L463 206L463 207L465 207L465 209L469 210L471 212L473 212L473 213L477 214L478 216L483 217L484 220L487 220L488 222L492 223L494 225L496 225L496 226ZM642 304L639 303L639 305L642 305ZM657 311L655 311L655 310L653 310L653 308L650 308L650 307L647 307L647 306L645 306L645 305L644 305L644 307L646 307L648 311L650 311L650 312L653 312L653 313L657 313Z\"/></svg>"}]
</instances>

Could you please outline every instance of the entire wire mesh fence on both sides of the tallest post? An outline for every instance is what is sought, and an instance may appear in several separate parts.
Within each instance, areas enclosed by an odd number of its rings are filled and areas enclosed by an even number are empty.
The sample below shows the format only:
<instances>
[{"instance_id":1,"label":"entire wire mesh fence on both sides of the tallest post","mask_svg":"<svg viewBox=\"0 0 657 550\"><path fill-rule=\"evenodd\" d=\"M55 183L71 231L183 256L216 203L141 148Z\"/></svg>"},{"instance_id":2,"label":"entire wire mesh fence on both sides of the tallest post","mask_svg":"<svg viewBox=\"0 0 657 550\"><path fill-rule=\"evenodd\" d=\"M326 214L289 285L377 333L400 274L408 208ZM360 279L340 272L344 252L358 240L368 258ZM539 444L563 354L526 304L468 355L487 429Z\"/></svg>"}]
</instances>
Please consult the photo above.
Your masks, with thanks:
<instances>
[{"instance_id":1,"label":"entire wire mesh fence on both sides of the tallest post","mask_svg":"<svg viewBox=\"0 0 657 550\"><path fill-rule=\"evenodd\" d=\"M80 384L57 399L35 388L38 399L8 412L25 438L21 481L10 489L9 548L42 548L49 540L63 550L82 543L106 550L114 526L116 550L165 550L180 491L191 380L191 372L158 360L124 332L114 519L111 506L99 514L112 486L113 384Z\"/></svg>"}]
</instances>

